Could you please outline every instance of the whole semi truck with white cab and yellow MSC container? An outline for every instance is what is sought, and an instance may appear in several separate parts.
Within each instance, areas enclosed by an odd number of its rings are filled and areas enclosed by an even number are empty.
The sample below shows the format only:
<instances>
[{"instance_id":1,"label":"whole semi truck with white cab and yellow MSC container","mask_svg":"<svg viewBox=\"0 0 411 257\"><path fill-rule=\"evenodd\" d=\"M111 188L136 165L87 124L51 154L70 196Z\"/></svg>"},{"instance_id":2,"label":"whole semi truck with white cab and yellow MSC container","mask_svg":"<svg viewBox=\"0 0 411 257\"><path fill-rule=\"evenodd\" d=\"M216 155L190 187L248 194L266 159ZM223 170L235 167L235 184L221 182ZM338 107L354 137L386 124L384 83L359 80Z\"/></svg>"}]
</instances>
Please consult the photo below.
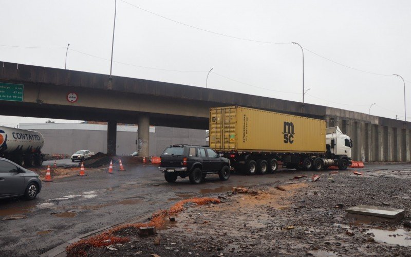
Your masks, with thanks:
<instances>
[{"instance_id":1,"label":"whole semi truck with white cab and yellow MSC container","mask_svg":"<svg viewBox=\"0 0 411 257\"><path fill-rule=\"evenodd\" d=\"M240 106L210 108L210 147L237 172L288 169L320 171L351 164L352 140L320 119Z\"/></svg>"}]
</instances>

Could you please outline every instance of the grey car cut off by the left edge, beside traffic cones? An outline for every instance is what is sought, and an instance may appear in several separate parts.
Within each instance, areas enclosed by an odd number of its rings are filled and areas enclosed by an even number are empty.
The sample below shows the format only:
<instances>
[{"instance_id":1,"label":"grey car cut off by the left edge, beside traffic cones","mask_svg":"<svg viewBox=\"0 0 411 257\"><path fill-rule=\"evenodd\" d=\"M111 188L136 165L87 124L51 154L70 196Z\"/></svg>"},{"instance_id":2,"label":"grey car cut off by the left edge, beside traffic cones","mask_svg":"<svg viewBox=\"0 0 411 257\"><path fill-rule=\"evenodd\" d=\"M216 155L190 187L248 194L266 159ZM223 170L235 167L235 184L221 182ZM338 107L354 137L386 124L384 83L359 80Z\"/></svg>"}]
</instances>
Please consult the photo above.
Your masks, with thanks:
<instances>
[{"instance_id":1,"label":"grey car cut off by the left edge, beside traffic cones","mask_svg":"<svg viewBox=\"0 0 411 257\"><path fill-rule=\"evenodd\" d=\"M0 158L0 199L25 196L32 200L41 189L42 181L38 174Z\"/></svg>"}]
</instances>

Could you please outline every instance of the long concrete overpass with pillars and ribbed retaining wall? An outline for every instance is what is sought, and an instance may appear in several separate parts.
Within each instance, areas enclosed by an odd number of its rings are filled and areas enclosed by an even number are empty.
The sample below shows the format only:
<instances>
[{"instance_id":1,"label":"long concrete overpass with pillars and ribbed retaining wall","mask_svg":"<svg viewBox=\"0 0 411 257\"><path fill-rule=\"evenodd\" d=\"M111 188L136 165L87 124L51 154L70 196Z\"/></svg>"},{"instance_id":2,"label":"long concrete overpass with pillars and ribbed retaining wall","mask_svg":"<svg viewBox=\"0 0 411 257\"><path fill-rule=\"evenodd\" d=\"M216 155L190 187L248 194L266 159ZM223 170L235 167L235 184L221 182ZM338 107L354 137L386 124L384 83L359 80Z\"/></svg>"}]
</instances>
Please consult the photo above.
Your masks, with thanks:
<instances>
[{"instance_id":1,"label":"long concrete overpass with pillars and ribbed retaining wall","mask_svg":"<svg viewBox=\"0 0 411 257\"><path fill-rule=\"evenodd\" d=\"M107 121L107 153L116 153L116 124L139 124L139 153L148 155L149 125L209 127L209 108L240 105L324 119L354 141L354 160L411 161L411 123L344 109L158 81L0 63L0 82L23 84L22 102L0 100L0 115ZM78 100L69 102L67 95ZM134 142L130 142L134 143Z\"/></svg>"}]
</instances>

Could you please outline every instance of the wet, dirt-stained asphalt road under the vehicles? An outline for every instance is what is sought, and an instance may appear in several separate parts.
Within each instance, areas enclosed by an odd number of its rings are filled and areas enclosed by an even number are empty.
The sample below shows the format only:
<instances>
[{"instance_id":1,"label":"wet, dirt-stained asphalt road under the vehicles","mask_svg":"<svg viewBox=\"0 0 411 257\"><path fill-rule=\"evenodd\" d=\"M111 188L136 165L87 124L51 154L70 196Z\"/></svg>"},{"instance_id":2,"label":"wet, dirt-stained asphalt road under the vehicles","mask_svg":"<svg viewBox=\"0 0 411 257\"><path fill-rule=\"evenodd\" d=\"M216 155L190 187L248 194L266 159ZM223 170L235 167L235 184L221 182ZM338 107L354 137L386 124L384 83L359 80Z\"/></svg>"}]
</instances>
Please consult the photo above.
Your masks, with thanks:
<instances>
[{"instance_id":1,"label":"wet, dirt-stained asphalt road under the vehicles","mask_svg":"<svg viewBox=\"0 0 411 257\"><path fill-rule=\"evenodd\" d=\"M372 165L361 171L409 167L409 164ZM27 216L0 221L0 256L38 255L80 234L165 209L183 198L227 192L233 186L252 186L314 174L282 170L256 176L233 174L228 181L208 175L201 185L191 185L188 178L179 178L176 183L165 182L156 166L129 166L122 172L117 169L115 167L114 174L106 173L106 169L86 170L85 177L43 182L41 193L32 201L0 200L0 219L14 214Z\"/></svg>"}]
</instances>

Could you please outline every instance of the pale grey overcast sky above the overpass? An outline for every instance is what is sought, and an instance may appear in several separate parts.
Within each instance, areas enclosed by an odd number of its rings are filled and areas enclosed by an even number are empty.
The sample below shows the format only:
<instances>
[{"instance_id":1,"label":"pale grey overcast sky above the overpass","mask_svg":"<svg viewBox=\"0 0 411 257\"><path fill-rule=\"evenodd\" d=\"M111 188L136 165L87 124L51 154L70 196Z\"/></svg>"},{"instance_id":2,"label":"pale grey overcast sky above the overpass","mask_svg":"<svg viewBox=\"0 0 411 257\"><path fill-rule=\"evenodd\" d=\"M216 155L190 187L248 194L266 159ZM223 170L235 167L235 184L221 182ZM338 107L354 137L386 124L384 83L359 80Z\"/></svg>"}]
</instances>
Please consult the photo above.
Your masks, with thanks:
<instances>
[{"instance_id":1,"label":"pale grey overcast sky above the overpass","mask_svg":"<svg viewBox=\"0 0 411 257\"><path fill-rule=\"evenodd\" d=\"M68 69L109 74L114 0L0 6L0 61L64 68L70 43ZM305 102L404 119L399 74L411 120L410 14L406 0L117 0L113 75L205 87L213 68L210 88L301 102L298 42Z\"/></svg>"}]
</instances>

